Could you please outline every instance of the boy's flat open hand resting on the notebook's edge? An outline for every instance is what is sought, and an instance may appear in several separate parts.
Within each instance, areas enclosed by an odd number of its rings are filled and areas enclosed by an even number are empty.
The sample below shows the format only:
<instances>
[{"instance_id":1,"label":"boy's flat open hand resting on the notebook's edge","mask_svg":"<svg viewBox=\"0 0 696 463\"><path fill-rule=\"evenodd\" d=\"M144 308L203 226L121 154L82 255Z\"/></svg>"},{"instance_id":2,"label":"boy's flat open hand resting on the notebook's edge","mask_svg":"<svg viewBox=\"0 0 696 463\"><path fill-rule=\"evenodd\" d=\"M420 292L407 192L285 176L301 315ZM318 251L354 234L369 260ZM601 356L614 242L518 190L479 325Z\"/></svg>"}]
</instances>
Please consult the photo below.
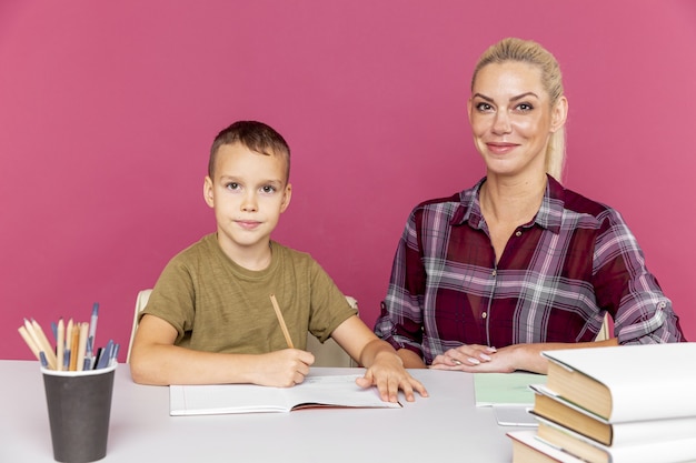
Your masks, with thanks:
<instances>
[{"instance_id":1,"label":"boy's flat open hand resting on the notebook's edge","mask_svg":"<svg viewBox=\"0 0 696 463\"><path fill-rule=\"evenodd\" d=\"M358 378L356 383L360 387L377 386L379 396L385 402L398 402L399 390L404 391L408 402L416 400L414 390L422 397L428 396L426 387L408 374L401 359L392 352L379 352L372 365L365 372L365 376Z\"/></svg>"}]
</instances>

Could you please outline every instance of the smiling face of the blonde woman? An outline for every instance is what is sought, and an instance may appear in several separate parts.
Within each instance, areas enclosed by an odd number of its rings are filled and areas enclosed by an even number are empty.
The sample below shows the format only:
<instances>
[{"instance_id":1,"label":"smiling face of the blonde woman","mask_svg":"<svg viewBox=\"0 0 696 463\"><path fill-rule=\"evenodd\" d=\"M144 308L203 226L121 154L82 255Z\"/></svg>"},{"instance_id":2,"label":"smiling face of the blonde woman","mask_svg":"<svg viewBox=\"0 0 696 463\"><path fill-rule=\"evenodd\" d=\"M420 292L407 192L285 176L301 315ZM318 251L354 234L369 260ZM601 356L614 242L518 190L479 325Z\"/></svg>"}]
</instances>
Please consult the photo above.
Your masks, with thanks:
<instances>
[{"instance_id":1,"label":"smiling face of the blonde woman","mask_svg":"<svg viewBox=\"0 0 696 463\"><path fill-rule=\"evenodd\" d=\"M468 111L488 175L544 174L549 137L565 123L566 109L565 97L550 107L534 66L508 61L480 69Z\"/></svg>"}]
</instances>

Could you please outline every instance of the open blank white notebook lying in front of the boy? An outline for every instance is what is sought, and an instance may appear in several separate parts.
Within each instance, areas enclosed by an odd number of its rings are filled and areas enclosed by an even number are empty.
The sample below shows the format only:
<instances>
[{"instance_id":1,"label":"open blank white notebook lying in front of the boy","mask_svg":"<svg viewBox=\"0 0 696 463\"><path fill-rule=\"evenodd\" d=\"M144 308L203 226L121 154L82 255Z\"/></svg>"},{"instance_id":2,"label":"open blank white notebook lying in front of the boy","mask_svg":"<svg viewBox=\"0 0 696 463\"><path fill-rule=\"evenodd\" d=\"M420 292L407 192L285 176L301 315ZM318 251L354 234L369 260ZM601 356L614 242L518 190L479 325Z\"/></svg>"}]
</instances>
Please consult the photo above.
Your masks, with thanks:
<instances>
[{"instance_id":1,"label":"open blank white notebook lying in front of the boy","mask_svg":"<svg viewBox=\"0 0 696 463\"><path fill-rule=\"evenodd\" d=\"M171 385L169 414L211 415L228 413L290 412L302 407L398 409L382 402L376 387L361 389L358 375L308 376L294 387L255 384Z\"/></svg>"}]
</instances>

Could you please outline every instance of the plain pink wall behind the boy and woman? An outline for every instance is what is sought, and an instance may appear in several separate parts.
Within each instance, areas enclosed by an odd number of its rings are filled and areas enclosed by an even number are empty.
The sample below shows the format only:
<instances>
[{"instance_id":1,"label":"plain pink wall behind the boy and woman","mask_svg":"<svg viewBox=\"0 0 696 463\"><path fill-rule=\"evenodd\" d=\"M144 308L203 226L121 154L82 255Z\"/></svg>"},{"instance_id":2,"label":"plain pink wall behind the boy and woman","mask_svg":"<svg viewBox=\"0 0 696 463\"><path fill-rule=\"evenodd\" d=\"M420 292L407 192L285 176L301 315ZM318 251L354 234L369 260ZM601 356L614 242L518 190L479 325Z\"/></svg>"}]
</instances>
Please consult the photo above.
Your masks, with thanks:
<instances>
[{"instance_id":1,"label":"plain pink wall behind the boy and woman","mask_svg":"<svg viewBox=\"0 0 696 463\"><path fill-rule=\"evenodd\" d=\"M100 339L128 343L137 291L213 230L207 151L238 119L294 150L276 239L311 252L371 325L411 207L483 174L468 81L506 36L559 59L566 184L624 213L695 340L689 0L4 0L0 358L30 358L22 318L87 320L95 301Z\"/></svg>"}]
</instances>

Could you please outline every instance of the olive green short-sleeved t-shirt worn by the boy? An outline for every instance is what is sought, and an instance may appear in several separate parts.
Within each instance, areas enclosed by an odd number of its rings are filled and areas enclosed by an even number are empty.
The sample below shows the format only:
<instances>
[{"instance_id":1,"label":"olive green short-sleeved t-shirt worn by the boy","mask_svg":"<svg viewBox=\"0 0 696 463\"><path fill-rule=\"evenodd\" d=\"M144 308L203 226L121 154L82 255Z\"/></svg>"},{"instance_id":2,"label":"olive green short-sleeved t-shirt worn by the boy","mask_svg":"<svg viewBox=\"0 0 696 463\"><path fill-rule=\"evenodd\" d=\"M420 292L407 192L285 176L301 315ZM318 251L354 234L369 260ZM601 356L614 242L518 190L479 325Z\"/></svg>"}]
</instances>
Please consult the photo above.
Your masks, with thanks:
<instances>
[{"instance_id":1,"label":"olive green short-sleeved t-shirt worn by the boy","mask_svg":"<svg viewBox=\"0 0 696 463\"><path fill-rule=\"evenodd\" d=\"M259 354L286 349L270 294L275 294L292 344L306 349L307 332L326 341L357 311L307 253L271 241L270 265L250 271L208 234L165 268L142 314L169 322L176 345L199 351Z\"/></svg>"}]
</instances>

